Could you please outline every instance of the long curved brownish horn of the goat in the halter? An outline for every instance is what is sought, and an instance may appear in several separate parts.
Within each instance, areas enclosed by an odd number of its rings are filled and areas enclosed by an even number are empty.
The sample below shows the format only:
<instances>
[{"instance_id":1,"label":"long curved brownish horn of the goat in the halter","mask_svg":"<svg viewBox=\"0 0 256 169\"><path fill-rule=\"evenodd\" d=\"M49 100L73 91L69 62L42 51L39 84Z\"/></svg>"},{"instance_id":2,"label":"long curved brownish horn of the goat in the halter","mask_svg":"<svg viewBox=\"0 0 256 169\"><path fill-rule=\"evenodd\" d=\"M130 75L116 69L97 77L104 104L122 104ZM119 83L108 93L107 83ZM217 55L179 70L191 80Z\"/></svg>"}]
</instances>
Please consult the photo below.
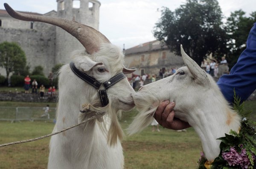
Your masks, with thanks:
<instances>
[{"instance_id":1,"label":"long curved brownish horn of the goat in the halter","mask_svg":"<svg viewBox=\"0 0 256 169\"><path fill-rule=\"evenodd\" d=\"M47 16L38 16L32 14L23 14L20 12L14 11L7 3L4 3L4 7L9 15L24 21L37 21L43 23L49 23L55 26L58 26L81 42L86 51L89 54L93 54L93 52L99 51L99 47L101 43L110 43L108 38L106 38L102 33L95 30L94 28L83 25L76 21L66 20L58 17L47 17Z\"/></svg>"}]
</instances>

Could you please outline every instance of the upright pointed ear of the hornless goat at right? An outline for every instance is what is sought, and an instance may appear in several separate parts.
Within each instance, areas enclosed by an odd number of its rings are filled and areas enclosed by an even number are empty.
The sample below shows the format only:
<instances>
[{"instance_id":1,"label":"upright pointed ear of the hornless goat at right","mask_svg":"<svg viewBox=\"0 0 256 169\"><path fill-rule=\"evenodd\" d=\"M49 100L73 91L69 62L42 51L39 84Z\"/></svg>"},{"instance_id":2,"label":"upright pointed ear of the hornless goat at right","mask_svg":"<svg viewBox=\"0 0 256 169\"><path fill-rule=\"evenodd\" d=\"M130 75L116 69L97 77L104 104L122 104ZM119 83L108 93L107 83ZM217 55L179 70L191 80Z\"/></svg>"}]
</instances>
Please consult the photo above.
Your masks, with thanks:
<instances>
[{"instance_id":1,"label":"upright pointed ear of the hornless goat at right","mask_svg":"<svg viewBox=\"0 0 256 169\"><path fill-rule=\"evenodd\" d=\"M200 66L185 53L185 51L182 48L182 45L180 45L180 50L185 65L189 68L190 72L195 77L195 79L200 82L204 82L205 80L207 80L206 72L203 69L201 69Z\"/></svg>"}]
</instances>

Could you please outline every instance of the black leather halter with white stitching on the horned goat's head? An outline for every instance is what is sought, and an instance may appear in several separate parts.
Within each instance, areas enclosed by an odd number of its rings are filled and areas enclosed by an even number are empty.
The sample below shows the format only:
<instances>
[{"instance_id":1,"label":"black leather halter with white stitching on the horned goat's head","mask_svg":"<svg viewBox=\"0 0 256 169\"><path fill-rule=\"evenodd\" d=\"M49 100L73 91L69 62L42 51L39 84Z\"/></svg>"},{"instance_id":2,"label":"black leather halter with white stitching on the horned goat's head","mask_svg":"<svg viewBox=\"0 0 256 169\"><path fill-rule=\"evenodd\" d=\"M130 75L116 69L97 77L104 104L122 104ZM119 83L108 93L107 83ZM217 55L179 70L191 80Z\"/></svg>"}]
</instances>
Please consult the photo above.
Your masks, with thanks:
<instances>
[{"instance_id":1,"label":"black leather halter with white stitching on the horned goat's head","mask_svg":"<svg viewBox=\"0 0 256 169\"><path fill-rule=\"evenodd\" d=\"M100 97L100 100L101 100L101 103L102 103L103 107L107 106L108 102L109 102L108 101L108 95L107 95L107 89L109 87L115 85L120 80L125 78L124 73L121 72L121 73L113 76L107 82L100 83L96 79L94 79L93 77L91 77L91 76L85 74L84 72L81 72L80 70L78 70L73 62L70 62L70 68L76 74L76 76L81 78L83 81L89 83L90 85L92 85L93 87L95 87L99 91L99 97ZM99 87L102 84L104 85L105 90L99 90Z\"/></svg>"}]
</instances>

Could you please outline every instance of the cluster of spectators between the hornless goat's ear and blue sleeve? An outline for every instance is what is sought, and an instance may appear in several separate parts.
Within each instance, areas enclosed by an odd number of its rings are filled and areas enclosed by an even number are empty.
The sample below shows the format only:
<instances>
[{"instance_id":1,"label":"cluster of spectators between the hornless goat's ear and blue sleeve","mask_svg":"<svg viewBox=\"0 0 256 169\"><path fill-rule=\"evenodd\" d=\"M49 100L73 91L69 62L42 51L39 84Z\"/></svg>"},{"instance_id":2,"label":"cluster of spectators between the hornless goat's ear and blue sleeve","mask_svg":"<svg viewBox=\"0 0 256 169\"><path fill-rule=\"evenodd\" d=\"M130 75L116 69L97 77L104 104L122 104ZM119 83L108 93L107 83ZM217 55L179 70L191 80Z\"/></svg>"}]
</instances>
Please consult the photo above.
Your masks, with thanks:
<instances>
[{"instance_id":1,"label":"cluster of spectators between the hornless goat's ear and blue sleeve","mask_svg":"<svg viewBox=\"0 0 256 169\"><path fill-rule=\"evenodd\" d=\"M219 64L227 65L227 60L225 57L221 57L221 62L218 63L215 59L210 59L211 62L205 62L204 60L201 62L201 68L204 69L207 73L212 75L212 77L218 77L219 73Z\"/></svg>"}]
</instances>

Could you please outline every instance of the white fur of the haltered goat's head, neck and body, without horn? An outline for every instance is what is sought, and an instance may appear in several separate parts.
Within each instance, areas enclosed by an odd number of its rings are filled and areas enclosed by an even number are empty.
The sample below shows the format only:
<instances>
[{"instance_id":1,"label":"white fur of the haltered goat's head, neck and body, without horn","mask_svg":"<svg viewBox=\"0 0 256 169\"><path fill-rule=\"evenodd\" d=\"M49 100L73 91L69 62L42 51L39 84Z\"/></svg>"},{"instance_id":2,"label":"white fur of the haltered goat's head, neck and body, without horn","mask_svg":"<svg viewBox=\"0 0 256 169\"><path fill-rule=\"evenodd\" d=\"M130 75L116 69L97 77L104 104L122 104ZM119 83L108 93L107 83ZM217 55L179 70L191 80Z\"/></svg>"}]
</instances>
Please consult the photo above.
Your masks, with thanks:
<instances>
[{"instance_id":1,"label":"white fur of the haltered goat's head, neck and body, without horn","mask_svg":"<svg viewBox=\"0 0 256 169\"><path fill-rule=\"evenodd\" d=\"M102 44L93 55L86 52L73 57L80 71L93 76L99 82L106 82L122 72L123 57L120 48ZM102 63L101 63L102 62ZM98 72L99 67L108 71ZM104 89L101 87L100 90ZM105 111L102 118L94 119L79 127L54 135L49 145L49 169L122 169L122 129L117 120L120 110L134 107L131 95L135 93L128 80L122 79L108 89L109 104L98 108ZM84 104L99 103L98 91L76 76L69 65L64 65L59 74L59 98L57 122L53 132L70 127L90 118L91 113L80 113Z\"/></svg>"}]
</instances>

